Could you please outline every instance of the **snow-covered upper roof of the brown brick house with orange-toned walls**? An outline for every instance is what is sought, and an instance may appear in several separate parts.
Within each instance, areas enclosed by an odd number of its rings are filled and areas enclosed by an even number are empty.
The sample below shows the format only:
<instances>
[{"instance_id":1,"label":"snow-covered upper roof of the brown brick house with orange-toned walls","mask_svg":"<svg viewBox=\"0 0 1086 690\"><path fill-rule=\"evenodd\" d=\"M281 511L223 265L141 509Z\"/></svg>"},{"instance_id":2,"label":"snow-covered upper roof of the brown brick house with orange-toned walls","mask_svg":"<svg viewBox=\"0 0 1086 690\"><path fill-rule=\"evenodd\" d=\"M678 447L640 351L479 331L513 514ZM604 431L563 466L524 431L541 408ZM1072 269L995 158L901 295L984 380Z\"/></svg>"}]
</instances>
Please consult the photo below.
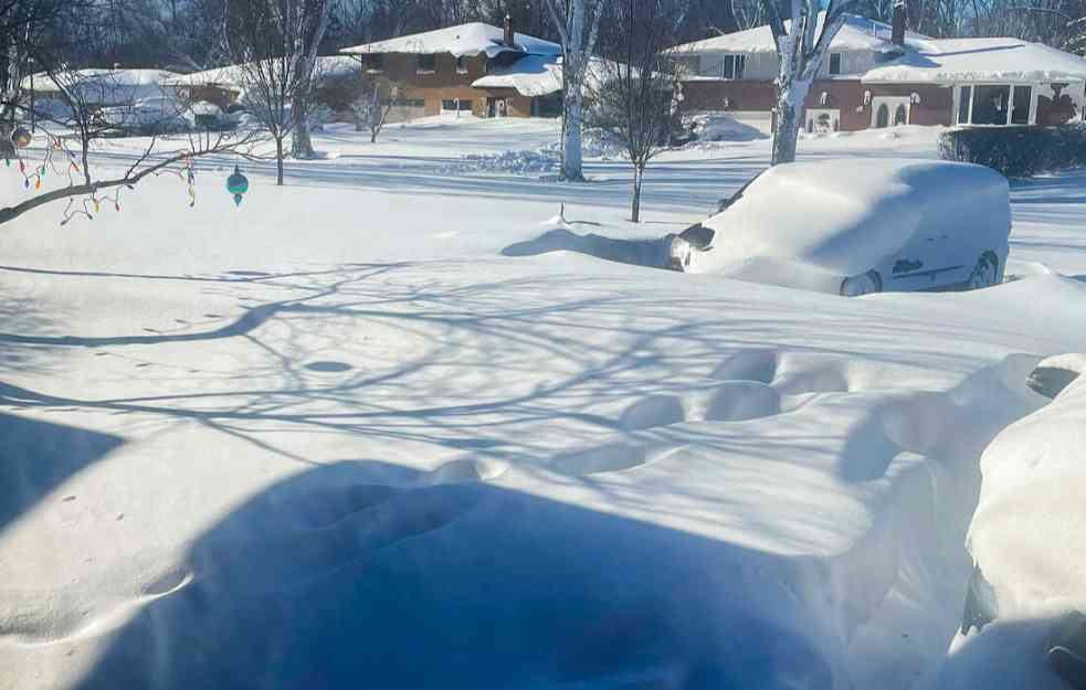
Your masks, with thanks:
<instances>
[{"instance_id":1,"label":"snow-covered upper roof of the brown brick house with orange-toned walls","mask_svg":"<svg viewBox=\"0 0 1086 690\"><path fill-rule=\"evenodd\" d=\"M398 36L387 41L377 41L363 45L345 47L341 53L362 54L362 53L413 53L413 54L434 54L452 53L461 55L478 55L486 53L493 57L498 53L508 51L523 53L556 54L561 52L561 46L550 41L536 39L523 33L514 34L514 46L503 43L505 32L497 26L484 24L482 22L471 22L426 31L424 33L413 33L405 36Z\"/></svg>"}]
</instances>

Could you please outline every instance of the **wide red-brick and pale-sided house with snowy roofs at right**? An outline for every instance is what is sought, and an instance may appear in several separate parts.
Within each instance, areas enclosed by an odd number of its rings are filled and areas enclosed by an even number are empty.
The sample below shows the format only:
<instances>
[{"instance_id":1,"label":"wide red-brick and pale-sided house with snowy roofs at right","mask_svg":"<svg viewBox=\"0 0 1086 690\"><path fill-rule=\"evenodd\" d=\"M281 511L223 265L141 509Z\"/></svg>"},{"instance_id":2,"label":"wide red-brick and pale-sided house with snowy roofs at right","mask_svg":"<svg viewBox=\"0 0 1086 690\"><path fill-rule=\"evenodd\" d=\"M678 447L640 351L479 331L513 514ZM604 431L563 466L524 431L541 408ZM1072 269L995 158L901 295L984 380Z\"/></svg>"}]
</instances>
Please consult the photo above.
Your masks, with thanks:
<instances>
[{"instance_id":1,"label":"wide red-brick and pale-sided house with snowy roofs at right","mask_svg":"<svg viewBox=\"0 0 1086 690\"><path fill-rule=\"evenodd\" d=\"M824 14L823 14L824 17ZM682 107L770 132L777 52L769 26L679 45ZM1086 60L1016 39L929 39L848 15L804 102L808 131L896 125L1056 125L1083 118Z\"/></svg>"}]
</instances>

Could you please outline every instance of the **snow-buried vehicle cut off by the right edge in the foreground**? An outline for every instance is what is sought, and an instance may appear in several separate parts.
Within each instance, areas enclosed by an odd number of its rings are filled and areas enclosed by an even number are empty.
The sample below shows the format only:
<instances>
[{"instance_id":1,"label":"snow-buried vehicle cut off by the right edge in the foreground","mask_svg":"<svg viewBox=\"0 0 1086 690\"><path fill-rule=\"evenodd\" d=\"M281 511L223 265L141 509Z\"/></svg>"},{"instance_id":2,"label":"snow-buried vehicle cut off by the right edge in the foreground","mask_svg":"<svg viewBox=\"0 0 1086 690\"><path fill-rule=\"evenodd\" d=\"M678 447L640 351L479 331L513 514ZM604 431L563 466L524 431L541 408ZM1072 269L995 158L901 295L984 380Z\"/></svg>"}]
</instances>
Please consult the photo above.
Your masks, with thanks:
<instances>
[{"instance_id":1,"label":"snow-buried vehicle cut off by the right edge in the foreground","mask_svg":"<svg viewBox=\"0 0 1086 690\"><path fill-rule=\"evenodd\" d=\"M981 458L974 567L941 687L1086 689L1086 354L1043 360L1026 385L1052 402ZM1047 664L1045 664L1047 661ZM1047 667L1047 668L1046 668Z\"/></svg>"}]
</instances>

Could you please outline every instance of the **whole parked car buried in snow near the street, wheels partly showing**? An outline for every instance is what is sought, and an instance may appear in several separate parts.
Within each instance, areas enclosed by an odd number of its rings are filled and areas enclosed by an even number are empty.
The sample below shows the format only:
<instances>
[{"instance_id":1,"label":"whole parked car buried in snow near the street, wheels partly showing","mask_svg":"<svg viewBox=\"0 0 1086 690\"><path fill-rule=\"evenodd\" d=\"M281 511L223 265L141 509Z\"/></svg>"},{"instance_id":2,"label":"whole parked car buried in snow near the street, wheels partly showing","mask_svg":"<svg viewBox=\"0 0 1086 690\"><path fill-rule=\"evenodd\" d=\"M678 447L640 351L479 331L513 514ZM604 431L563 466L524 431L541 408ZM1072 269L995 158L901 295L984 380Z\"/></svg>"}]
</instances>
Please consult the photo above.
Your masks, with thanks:
<instances>
[{"instance_id":1,"label":"whole parked car buried in snow near the street, wheels partly showing","mask_svg":"<svg viewBox=\"0 0 1086 690\"><path fill-rule=\"evenodd\" d=\"M946 161L774 166L721 206L673 267L845 296L995 285L1011 232L1006 179Z\"/></svg>"}]
</instances>

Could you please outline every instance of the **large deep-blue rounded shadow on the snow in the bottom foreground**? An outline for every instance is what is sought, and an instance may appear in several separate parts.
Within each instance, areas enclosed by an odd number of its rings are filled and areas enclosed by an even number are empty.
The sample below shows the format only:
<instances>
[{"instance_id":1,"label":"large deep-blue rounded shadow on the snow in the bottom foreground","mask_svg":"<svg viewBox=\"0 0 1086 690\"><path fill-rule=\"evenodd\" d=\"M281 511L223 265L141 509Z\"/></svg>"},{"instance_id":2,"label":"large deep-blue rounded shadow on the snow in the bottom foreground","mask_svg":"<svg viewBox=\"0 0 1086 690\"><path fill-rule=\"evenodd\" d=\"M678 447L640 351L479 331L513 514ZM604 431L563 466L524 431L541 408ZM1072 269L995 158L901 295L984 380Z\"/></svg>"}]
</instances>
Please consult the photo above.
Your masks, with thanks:
<instances>
[{"instance_id":1,"label":"large deep-blue rounded shadow on the snow in the bottom foreground","mask_svg":"<svg viewBox=\"0 0 1086 690\"><path fill-rule=\"evenodd\" d=\"M738 564L762 554L497 485L420 480L340 461L254 497L196 541L180 584L76 687L832 684L803 614L742 592ZM787 586L762 595L787 599Z\"/></svg>"}]
</instances>

